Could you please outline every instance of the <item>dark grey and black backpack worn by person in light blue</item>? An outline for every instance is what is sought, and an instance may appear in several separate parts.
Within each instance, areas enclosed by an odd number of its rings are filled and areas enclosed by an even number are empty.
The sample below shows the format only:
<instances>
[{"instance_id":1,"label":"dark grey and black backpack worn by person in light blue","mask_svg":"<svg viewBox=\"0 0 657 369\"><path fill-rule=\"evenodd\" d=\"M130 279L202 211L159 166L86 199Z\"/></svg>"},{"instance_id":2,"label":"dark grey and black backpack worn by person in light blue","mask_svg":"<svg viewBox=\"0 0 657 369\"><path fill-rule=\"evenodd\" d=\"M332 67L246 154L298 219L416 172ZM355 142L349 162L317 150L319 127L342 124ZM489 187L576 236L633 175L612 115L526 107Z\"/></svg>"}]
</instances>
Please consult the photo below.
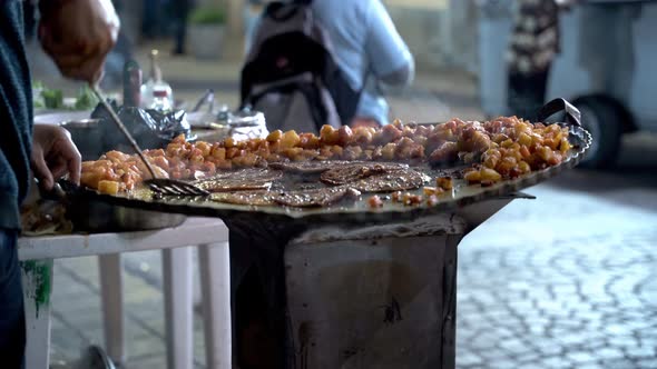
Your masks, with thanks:
<instances>
[{"instance_id":1,"label":"dark grey and black backpack worn by person in light blue","mask_svg":"<svg viewBox=\"0 0 657 369\"><path fill-rule=\"evenodd\" d=\"M323 124L349 124L362 89L349 84L333 58L329 34L311 1L265 8L242 69L242 107L262 111L269 131L318 132Z\"/></svg>"}]
</instances>

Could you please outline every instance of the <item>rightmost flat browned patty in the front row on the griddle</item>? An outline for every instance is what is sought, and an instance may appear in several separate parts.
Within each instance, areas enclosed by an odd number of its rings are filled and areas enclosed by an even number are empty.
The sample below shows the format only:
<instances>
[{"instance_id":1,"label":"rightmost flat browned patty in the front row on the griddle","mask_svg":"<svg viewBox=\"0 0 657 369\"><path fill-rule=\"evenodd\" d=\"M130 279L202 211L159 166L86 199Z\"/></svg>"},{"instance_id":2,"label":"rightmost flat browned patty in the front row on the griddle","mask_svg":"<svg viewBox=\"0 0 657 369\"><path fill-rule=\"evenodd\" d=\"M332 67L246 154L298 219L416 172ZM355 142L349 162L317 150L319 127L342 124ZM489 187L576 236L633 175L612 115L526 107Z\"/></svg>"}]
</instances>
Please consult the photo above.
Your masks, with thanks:
<instances>
[{"instance_id":1,"label":"rightmost flat browned patty in the front row on the griddle","mask_svg":"<svg viewBox=\"0 0 657 369\"><path fill-rule=\"evenodd\" d=\"M383 174L370 176L350 186L362 192L393 192L414 190L430 178L412 169L398 169Z\"/></svg>"}]
</instances>

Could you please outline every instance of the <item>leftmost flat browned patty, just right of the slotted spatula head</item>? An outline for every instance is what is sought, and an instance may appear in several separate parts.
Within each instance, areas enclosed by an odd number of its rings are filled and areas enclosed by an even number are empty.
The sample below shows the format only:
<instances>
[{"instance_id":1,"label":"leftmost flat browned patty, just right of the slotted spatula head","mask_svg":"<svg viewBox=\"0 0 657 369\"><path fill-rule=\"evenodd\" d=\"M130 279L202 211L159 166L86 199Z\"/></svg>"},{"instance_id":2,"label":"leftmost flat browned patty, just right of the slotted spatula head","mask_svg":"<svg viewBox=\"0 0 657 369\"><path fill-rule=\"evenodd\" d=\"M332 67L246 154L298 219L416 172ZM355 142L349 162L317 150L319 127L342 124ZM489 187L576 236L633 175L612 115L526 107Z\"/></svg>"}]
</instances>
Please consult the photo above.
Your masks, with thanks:
<instances>
[{"instance_id":1,"label":"leftmost flat browned patty, just right of the slotted spatula head","mask_svg":"<svg viewBox=\"0 0 657 369\"><path fill-rule=\"evenodd\" d=\"M212 178L195 181L194 184L210 192L268 190L282 176L283 172L278 170L248 168L220 172Z\"/></svg>"}]
</instances>

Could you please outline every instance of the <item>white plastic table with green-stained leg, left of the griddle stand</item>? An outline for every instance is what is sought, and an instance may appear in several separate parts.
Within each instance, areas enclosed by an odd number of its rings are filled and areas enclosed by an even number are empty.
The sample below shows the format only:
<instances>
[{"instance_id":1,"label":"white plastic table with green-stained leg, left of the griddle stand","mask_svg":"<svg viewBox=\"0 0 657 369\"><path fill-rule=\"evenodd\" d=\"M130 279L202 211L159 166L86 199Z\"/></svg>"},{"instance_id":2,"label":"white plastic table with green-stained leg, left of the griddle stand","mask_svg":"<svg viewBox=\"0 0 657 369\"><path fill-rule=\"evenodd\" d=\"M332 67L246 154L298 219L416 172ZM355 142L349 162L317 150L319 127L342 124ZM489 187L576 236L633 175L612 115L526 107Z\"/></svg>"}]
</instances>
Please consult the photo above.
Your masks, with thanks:
<instances>
[{"instance_id":1,"label":"white plastic table with green-stained leg, left of the griddle stand","mask_svg":"<svg viewBox=\"0 0 657 369\"><path fill-rule=\"evenodd\" d=\"M27 319L26 368L47 369L50 355L52 260L99 256L106 349L125 359L120 253L163 250L167 363L194 367L192 247L198 247L207 367L231 368L231 276L228 229L218 219L188 218L155 231L24 237L18 241L23 263Z\"/></svg>"}]
</instances>

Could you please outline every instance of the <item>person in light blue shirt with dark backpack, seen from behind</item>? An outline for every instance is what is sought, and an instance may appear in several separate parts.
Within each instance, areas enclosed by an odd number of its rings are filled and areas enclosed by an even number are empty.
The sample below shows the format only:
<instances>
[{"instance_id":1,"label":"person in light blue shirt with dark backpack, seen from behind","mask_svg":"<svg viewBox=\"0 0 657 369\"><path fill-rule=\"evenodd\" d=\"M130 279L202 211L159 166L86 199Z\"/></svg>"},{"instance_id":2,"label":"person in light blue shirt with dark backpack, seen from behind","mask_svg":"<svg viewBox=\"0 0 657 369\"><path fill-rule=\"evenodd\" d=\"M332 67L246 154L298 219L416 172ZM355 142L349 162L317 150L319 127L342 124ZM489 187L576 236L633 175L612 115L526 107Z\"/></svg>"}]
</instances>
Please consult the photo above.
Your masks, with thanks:
<instances>
[{"instance_id":1,"label":"person in light blue shirt with dark backpack, seen from behind","mask_svg":"<svg viewBox=\"0 0 657 369\"><path fill-rule=\"evenodd\" d=\"M414 77L414 60L380 0L269 2L247 34L242 106L269 130L384 126L383 92Z\"/></svg>"}]
</instances>

